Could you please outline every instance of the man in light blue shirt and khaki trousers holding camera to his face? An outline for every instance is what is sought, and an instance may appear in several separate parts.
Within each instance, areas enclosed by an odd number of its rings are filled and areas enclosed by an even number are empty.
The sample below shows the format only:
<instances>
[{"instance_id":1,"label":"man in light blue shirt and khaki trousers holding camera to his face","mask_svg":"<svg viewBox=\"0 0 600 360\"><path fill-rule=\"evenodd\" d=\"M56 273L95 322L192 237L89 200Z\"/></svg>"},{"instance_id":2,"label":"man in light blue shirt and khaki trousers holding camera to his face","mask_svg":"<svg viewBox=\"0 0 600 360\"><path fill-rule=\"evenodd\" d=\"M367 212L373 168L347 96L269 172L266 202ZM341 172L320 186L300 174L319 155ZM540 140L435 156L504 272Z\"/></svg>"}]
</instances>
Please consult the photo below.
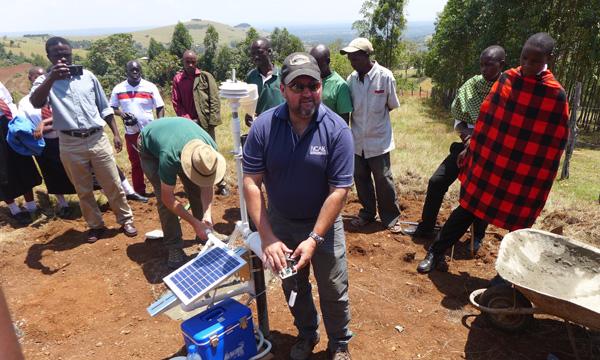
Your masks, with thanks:
<instances>
[{"instance_id":1,"label":"man in light blue shirt and khaki trousers holding camera to his face","mask_svg":"<svg viewBox=\"0 0 600 360\"><path fill-rule=\"evenodd\" d=\"M88 70L71 65L71 44L64 38L46 41L46 54L52 63L46 75L33 83L29 100L36 108L52 107L54 130L60 144L60 159L79 196L81 213L89 226L87 239L95 242L106 227L94 197L92 172L125 235L133 237L133 213L117 172L113 149L104 134L108 124L114 135L117 152L122 150L121 135L100 82Z\"/></svg>"}]
</instances>

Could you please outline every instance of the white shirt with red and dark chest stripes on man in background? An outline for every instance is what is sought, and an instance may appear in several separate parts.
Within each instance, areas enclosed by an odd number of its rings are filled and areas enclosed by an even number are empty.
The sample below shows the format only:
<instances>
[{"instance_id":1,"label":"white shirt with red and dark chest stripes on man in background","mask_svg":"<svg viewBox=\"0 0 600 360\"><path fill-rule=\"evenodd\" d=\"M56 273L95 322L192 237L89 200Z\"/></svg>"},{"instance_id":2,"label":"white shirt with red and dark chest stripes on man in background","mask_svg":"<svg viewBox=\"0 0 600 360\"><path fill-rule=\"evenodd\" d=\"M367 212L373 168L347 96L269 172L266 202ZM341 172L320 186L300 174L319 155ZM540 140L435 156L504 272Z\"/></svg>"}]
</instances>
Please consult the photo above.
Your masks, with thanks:
<instances>
[{"instance_id":1,"label":"white shirt with red and dark chest stripes on man in background","mask_svg":"<svg viewBox=\"0 0 600 360\"><path fill-rule=\"evenodd\" d=\"M137 86L131 86L127 80L115 86L110 96L109 105L121 108L121 111L132 113L137 118L135 126L125 126L127 134L136 134L144 126L154 120L155 108L165 106L158 88L153 83L144 79Z\"/></svg>"}]
</instances>

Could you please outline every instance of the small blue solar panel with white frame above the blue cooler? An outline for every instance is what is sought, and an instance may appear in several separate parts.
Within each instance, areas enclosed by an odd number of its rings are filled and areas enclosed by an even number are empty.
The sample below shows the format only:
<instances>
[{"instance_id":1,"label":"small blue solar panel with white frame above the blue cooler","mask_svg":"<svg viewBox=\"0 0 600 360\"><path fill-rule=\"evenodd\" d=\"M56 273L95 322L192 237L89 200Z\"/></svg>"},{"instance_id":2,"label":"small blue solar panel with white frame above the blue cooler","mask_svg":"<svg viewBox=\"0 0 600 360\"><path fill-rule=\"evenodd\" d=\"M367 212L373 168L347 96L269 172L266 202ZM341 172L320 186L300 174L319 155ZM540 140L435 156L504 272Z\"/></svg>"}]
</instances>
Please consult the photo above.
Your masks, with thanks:
<instances>
[{"instance_id":1,"label":"small blue solar panel with white frame above the blue cooler","mask_svg":"<svg viewBox=\"0 0 600 360\"><path fill-rule=\"evenodd\" d=\"M235 273L245 263L232 250L215 246L190 260L163 280L185 305L189 305Z\"/></svg>"}]
</instances>

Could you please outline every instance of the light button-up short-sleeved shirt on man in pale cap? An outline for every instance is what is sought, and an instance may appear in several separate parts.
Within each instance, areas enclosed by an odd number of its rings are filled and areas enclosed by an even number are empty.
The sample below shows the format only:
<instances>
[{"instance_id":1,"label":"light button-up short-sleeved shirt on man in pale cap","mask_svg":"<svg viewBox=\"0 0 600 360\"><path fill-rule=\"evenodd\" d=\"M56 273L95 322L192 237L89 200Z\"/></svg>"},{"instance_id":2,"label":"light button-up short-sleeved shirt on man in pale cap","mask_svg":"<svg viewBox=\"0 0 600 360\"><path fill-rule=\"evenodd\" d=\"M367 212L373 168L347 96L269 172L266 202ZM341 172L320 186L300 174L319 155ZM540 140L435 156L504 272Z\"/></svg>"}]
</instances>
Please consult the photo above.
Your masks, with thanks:
<instances>
[{"instance_id":1,"label":"light button-up short-sleeved shirt on man in pale cap","mask_svg":"<svg viewBox=\"0 0 600 360\"><path fill-rule=\"evenodd\" d=\"M352 136L354 153L372 158L395 148L390 111L399 107L396 80L377 62L361 82L354 71L347 80L352 95Z\"/></svg>"}]
</instances>

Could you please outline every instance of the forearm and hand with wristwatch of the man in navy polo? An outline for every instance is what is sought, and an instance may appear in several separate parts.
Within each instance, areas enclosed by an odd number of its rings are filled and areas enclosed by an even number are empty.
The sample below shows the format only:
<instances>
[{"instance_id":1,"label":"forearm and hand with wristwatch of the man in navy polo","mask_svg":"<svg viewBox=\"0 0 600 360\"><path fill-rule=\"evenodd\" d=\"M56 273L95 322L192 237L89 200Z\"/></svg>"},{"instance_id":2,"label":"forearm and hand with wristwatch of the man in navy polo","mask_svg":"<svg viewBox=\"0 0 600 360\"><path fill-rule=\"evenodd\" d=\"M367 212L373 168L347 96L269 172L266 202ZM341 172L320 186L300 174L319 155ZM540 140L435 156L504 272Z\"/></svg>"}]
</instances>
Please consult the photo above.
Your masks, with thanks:
<instances>
[{"instance_id":1,"label":"forearm and hand with wristwatch of the man in navy polo","mask_svg":"<svg viewBox=\"0 0 600 360\"><path fill-rule=\"evenodd\" d=\"M333 226L335 219L338 217L344 204L346 203L346 199L348 198L348 192L350 188L335 188L333 186L329 187L329 195L325 199L323 206L321 206L321 211L319 212L319 216L317 217L317 222L315 223L315 227L313 231L319 236L325 236L327 231ZM306 240L300 243L292 257L300 259L298 260L298 264L296 265L296 269L301 269L304 266L308 265L310 259L315 253L315 249L317 247L317 242L312 238L308 237Z\"/></svg>"}]
</instances>

